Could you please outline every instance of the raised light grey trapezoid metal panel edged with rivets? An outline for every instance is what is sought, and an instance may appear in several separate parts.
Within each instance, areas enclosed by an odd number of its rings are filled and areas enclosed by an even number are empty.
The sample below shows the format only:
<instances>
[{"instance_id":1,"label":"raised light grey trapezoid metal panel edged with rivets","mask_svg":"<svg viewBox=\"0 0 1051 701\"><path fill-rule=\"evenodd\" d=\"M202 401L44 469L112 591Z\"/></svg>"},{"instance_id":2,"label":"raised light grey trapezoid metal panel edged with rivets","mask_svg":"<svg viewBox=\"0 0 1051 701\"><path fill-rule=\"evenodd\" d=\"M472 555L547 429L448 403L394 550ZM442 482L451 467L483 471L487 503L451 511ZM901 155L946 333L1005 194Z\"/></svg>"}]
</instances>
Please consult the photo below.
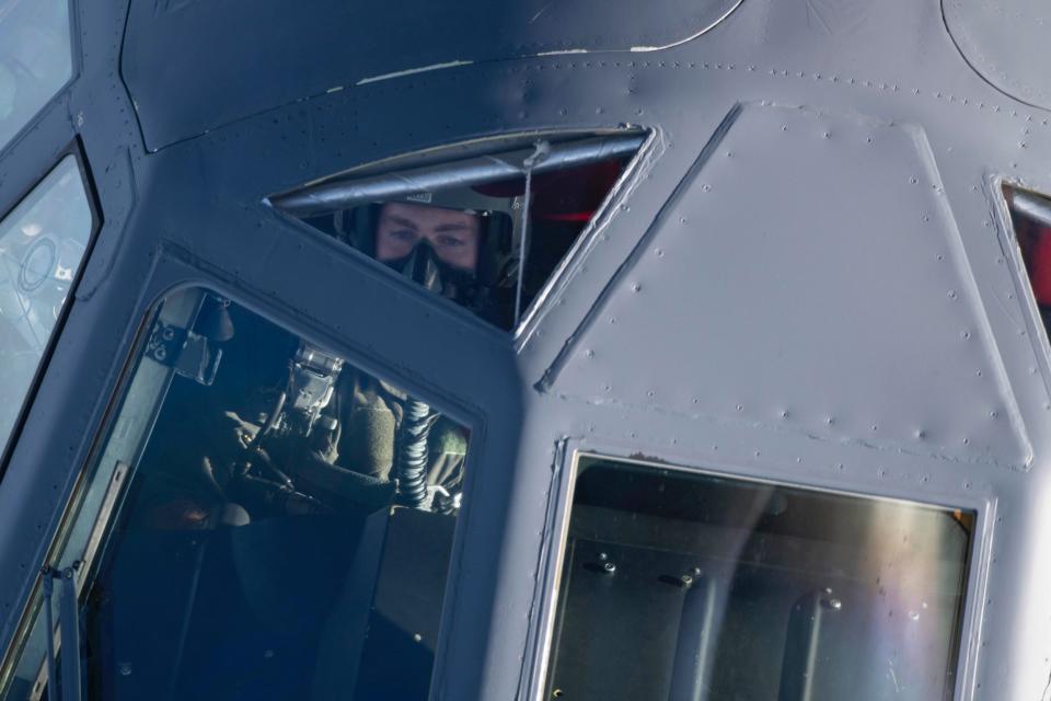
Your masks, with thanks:
<instances>
[{"instance_id":1,"label":"raised light grey trapezoid metal panel edged with rivets","mask_svg":"<svg viewBox=\"0 0 1051 701\"><path fill-rule=\"evenodd\" d=\"M1029 464L919 128L736 108L635 255L545 384L818 440ZM675 378L624 372L632 364Z\"/></svg>"}]
</instances>

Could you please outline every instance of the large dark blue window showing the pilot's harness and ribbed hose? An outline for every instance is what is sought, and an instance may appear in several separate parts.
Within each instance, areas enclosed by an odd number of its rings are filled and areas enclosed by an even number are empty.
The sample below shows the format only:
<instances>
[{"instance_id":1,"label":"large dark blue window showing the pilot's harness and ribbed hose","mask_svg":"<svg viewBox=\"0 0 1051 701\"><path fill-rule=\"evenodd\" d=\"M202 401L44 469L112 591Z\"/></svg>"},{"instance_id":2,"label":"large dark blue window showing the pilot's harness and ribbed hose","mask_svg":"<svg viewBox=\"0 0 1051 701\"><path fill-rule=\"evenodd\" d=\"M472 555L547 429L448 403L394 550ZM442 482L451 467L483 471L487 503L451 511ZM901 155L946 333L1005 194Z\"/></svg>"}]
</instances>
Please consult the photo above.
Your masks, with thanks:
<instances>
[{"instance_id":1,"label":"large dark blue window showing the pilot's harness and ribbed hose","mask_svg":"<svg viewBox=\"0 0 1051 701\"><path fill-rule=\"evenodd\" d=\"M77 665L91 699L426 699L469 441L227 299L171 296L2 698Z\"/></svg>"}]
</instances>

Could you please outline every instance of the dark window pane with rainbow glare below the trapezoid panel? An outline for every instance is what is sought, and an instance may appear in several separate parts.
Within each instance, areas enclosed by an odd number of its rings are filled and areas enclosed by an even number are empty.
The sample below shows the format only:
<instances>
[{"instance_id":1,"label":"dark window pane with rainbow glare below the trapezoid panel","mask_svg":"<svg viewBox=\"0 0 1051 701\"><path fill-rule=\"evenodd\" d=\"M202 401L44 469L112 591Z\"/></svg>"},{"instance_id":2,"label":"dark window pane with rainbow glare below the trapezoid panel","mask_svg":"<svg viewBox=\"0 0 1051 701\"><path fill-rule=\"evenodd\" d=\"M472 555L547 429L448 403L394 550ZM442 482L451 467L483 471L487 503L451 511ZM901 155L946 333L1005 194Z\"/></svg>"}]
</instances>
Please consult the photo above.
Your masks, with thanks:
<instances>
[{"instance_id":1,"label":"dark window pane with rainbow glare below the trapezoid panel","mask_svg":"<svg viewBox=\"0 0 1051 701\"><path fill-rule=\"evenodd\" d=\"M951 699L972 526L581 457L545 698Z\"/></svg>"}]
</instances>

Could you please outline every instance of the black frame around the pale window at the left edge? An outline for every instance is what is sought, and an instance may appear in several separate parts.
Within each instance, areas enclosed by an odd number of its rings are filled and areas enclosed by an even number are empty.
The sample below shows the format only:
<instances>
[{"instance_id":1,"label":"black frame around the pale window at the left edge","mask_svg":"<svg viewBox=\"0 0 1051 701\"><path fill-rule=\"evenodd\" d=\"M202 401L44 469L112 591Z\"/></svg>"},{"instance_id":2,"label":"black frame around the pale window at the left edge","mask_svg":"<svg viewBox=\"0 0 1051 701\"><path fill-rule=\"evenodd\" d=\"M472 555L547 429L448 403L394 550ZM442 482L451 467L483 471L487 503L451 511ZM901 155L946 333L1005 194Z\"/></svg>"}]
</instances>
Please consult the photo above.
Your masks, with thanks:
<instances>
[{"instance_id":1,"label":"black frame around the pale window at the left edge","mask_svg":"<svg viewBox=\"0 0 1051 701\"><path fill-rule=\"evenodd\" d=\"M10 464L11 458L18 448L19 439L22 435L23 428L25 427L25 423L28 420L33 404L36 401L36 397L39 393L41 386L44 381L44 376L47 374L51 357L54 356L59 338L65 331L66 321L69 319L69 314L71 313L73 306L77 303L77 292L80 287L80 281L83 279L84 271L88 269L88 265L91 262L91 254L94 251L95 243L99 240L100 232L102 231L102 227L104 225L102 207L99 202L99 193L95 189L94 179L92 177L88 159L84 156L83 145L80 140L80 137L77 136L72 141L67 143L62 150L58 152L51 161L48 162L48 166L44 170L43 174L41 174L28 188L22 192L14 204L12 204L2 216L0 216L0 223L7 221L8 217L10 217L14 210L18 209L19 206L25 202L36 191L37 187L41 186L44 180L55 172L55 169L57 169L61 162L70 156L76 159L77 170L80 173L80 182L84 188L84 198L88 200L88 207L91 210L91 231L88 234L88 244L84 246L84 255L81 257L80 265L77 266L73 280L69 286L69 295L67 296L66 303L62 304L61 312L59 312L58 319L55 320L55 326L51 329L51 333L48 336L47 345L44 348L44 353L41 355L39 361L37 363L36 370L33 374L33 379L22 398L22 405L19 407L18 417L15 418L14 425L12 426L11 433L3 444L2 449L0 449L0 483L3 482L4 474L7 474L8 471L8 466Z\"/></svg>"}]
</instances>

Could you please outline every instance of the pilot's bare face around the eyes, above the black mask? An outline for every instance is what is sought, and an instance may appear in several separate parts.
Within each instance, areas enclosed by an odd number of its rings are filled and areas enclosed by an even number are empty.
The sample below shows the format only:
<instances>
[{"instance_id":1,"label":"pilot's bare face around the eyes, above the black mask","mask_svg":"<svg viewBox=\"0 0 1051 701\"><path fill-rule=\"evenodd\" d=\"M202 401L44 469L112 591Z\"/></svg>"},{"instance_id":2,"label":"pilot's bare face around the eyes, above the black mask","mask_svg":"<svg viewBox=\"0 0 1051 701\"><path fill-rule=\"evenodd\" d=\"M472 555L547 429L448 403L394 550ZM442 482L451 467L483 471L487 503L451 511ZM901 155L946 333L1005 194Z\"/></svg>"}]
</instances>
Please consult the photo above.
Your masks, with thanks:
<instances>
[{"instance_id":1,"label":"pilot's bare face around the eyes, above the black mask","mask_svg":"<svg viewBox=\"0 0 1051 701\"><path fill-rule=\"evenodd\" d=\"M474 271L478 263L478 217L429 205L388 203L376 230L376 258L396 261L426 240L444 263Z\"/></svg>"}]
</instances>

